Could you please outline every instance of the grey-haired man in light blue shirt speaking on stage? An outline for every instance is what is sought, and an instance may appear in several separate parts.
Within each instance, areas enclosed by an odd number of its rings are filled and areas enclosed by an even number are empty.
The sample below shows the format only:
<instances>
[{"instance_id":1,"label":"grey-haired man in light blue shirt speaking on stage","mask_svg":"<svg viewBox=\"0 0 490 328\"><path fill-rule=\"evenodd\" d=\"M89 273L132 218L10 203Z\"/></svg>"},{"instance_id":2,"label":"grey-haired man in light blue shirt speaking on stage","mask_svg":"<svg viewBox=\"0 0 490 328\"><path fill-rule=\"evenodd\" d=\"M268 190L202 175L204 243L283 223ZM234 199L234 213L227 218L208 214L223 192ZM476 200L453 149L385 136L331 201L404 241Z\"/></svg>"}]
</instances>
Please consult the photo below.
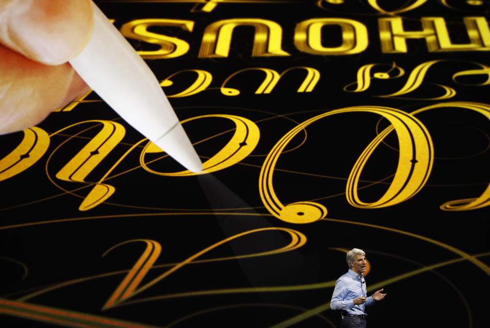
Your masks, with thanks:
<instances>
[{"instance_id":1,"label":"grey-haired man in light blue shirt speaking on stage","mask_svg":"<svg viewBox=\"0 0 490 328\"><path fill-rule=\"evenodd\" d=\"M335 283L330 308L341 310L341 328L365 328L365 307L382 300L386 294L383 289L367 297L363 273L366 271L366 254L362 249L353 248L347 252L349 271L340 276Z\"/></svg>"}]
</instances>

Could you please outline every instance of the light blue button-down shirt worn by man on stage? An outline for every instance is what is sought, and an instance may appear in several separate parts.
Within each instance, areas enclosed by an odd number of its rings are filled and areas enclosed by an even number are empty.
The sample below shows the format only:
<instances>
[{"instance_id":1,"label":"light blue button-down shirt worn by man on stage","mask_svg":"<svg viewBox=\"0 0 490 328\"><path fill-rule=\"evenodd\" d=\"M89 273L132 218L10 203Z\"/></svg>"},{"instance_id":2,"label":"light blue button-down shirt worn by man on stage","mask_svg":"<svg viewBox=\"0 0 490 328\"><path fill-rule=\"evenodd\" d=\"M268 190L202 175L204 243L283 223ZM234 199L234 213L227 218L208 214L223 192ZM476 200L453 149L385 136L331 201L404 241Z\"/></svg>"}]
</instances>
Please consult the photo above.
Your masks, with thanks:
<instances>
[{"instance_id":1,"label":"light blue button-down shirt worn by man on stage","mask_svg":"<svg viewBox=\"0 0 490 328\"><path fill-rule=\"evenodd\" d=\"M354 305L354 299L366 296L366 284L364 277L349 269L335 283L330 308L332 310L342 310L347 314L366 314L365 307L374 303L373 296L367 297L364 304Z\"/></svg>"}]
</instances>

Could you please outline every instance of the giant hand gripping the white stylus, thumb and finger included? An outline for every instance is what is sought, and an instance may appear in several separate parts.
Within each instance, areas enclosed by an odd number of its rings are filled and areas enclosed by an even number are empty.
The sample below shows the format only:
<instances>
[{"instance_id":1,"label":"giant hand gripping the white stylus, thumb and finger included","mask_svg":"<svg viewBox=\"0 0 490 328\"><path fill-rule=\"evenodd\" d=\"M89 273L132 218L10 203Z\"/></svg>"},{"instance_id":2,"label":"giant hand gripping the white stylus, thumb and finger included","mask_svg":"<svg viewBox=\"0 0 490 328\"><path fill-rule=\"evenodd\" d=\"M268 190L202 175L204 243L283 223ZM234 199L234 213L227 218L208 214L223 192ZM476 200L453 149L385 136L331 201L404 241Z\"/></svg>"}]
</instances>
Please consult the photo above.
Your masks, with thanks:
<instances>
[{"instance_id":1,"label":"giant hand gripping the white stylus, thumb and finger included","mask_svg":"<svg viewBox=\"0 0 490 328\"><path fill-rule=\"evenodd\" d=\"M30 128L89 90L67 61L92 26L90 0L0 0L0 134Z\"/></svg>"}]
</instances>

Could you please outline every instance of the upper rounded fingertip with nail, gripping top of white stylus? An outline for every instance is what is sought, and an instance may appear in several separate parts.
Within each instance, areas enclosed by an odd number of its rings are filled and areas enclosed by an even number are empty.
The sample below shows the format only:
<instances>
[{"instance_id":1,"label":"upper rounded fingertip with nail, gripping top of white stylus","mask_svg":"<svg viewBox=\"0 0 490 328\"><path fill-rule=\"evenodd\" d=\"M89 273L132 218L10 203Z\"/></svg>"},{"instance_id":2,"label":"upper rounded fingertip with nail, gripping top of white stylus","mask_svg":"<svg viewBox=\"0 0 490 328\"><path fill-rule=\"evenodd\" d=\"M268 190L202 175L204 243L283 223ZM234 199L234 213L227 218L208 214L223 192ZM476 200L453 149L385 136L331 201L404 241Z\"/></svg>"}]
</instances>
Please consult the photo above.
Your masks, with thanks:
<instances>
[{"instance_id":1,"label":"upper rounded fingertip with nail, gripping top of white stylus","mask_svg":"<svg viewBox=\"0 0 490 328\"><path fill-rule=\"evenodd\" d=\"M0 42L44 64L77 56L92 25L90 0L0 0Z\"/></svg>"}]
</instances>

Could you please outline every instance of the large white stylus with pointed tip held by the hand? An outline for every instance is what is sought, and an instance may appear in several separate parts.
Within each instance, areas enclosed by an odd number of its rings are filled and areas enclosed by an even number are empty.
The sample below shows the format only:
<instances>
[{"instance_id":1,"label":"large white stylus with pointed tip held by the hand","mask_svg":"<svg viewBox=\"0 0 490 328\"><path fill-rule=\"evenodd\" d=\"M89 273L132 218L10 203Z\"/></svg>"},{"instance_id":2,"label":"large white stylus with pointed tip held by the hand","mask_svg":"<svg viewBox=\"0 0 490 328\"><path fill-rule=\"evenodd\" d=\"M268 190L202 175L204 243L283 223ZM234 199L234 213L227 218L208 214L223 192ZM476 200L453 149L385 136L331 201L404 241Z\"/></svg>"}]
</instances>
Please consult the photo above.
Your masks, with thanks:
<instances>
[{"instance_id":1,"label":"large white stylus with pointed tip held by the hand","mask_svg":"<svg viewBox=\"0 0 490 328\"><path fill-rule=\"evenodd\" d=\"M195 152L152 70L92 3L93 31L69 62L82 79L126 122L185 168L200 172Z\"/></svg>"}]
</instances>

